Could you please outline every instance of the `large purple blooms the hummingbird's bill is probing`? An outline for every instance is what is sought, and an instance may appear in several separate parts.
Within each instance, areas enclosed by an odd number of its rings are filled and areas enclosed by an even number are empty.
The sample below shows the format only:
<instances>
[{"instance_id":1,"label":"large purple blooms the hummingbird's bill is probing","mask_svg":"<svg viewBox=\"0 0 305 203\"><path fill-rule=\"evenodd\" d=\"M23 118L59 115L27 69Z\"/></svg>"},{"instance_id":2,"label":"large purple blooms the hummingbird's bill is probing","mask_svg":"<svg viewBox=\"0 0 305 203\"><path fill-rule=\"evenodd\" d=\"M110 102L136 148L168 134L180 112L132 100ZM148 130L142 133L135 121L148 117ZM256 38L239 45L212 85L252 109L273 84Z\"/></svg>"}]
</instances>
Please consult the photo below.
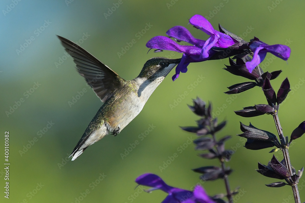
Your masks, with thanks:
<instances>
[{"instance_id":1,"label":"large purple blooms the hummingbird's bill is probing","mask_svg":"<svg viewBox=\"0 0 305 203\"><path fill-rule=\"evenodd\" d=\"M196 39L185 27L175 26L166 32L167 35L174 37L177 41L185 41L193 44L193 46L179 45L175 41L163 36L153 37L146 44L146 47L157 49L156 51L170 50L183 53L181 62L176 67L176 74L172 77L173 80L178 78L180 72L187 72L189 63L208 60L216 53L215 50L211 49L212 47L227 48L237 43L229 35L214 30L213 26L203 16L195 15L189 22L196 28L210 35L210 38L206 41Z\"/></svg>"}]
</instances>

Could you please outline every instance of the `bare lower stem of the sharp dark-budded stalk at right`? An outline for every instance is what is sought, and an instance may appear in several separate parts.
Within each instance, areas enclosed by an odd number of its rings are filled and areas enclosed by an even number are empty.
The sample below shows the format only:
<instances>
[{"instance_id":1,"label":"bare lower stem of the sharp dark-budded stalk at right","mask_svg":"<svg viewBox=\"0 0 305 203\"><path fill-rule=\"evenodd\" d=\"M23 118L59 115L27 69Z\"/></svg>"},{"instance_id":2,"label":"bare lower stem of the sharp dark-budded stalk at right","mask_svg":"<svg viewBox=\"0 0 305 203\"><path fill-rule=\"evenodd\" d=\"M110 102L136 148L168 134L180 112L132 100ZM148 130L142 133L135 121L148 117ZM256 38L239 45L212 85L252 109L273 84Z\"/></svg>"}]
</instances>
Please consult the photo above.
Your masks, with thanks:
<instances>
[{"instance_id":1,"label":"bare lower stem of the sharp dark-budded stalk at right","mask_svg":"<svg viewBox=\"0 0 305 203\"><path fill-rule=\"evenodd\" d=\"M282 149L282 152L283 152L286 168L289 170L290 176L292 176L293 171L292 171L291 162L290 162L289 153L288 153L289 143L285 142L282 127L281 127L280 121L278 119L278 114L277 113L273 114L273 119L274 119L276 129L278 131L278 136L280 137L281 143L284 147ZM292 185L291 187L292 187L294 201L296 203L301 203L300 194L299 194L299 190L298 190L298 185Z\"/></svg>"}]
</instances>

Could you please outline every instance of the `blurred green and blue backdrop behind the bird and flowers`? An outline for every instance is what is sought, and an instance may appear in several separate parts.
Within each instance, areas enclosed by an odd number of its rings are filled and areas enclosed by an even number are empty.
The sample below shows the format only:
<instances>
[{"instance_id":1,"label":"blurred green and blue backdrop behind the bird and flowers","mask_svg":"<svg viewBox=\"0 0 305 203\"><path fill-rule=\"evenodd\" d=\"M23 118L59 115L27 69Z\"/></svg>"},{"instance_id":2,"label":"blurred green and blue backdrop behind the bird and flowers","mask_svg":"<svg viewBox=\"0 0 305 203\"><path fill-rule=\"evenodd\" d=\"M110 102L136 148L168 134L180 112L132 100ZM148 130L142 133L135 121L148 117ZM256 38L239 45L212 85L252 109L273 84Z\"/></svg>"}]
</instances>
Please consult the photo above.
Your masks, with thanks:
<instances>
[{"instance_id":1,"label":"blurred green and blue backdrop behind the bird and flowers","mask_svg":"<svg viewBox=\"0 0 305 203\"><path fill-rule=\"evenodd\" d=\"M292 49L288 63L279 58L272 59L272 55L267 54L261 65L269 72L283 70L272 81L274 89L288 77L294 90L279 111L284 135L290 136L305 120L304 6L304 1L278 0L255 3L229 0L2 0L1 202L161 202L166 197L164 192L147 194L141 187L135 189L134 180L143 173L155 173L167 184L191 190L199 183L200 175L191 169L218 164L216 160L199 158L193 144L187 144L188 139L196 136L179 128L196 125L198 117L187 107L196 96L213 103L213 112L220 121L228 120L227 127L218 136L232 135L226 145L235 151L227 163L234 170L229 180L232 189L238 186L241 189L235 202L293 202L290 187L268 188L264 184L277 180L255 171L257 162L267 164L271 159L272 154L268 153L271 149L246 150L242 147L245 140L235 136L241 133L239 121L244 124L251 121L254 126L274 134L276 129L271 116L243 118L234 114L234 110L266 101L260 88L241 95L223 93L227 91L226 87L247 81L222 69L228 59L191 64L188 72L174 82L170 78L173 72L170 73L142 112L117 137L103 138L75 161L70 161L68 155L102 103L77 73L71 57L65 56L56 35L78 41L124 79L135 78L149 58L181 57L171 51L147 53L149 49L145 47L149 39L165 36L173 26L185 26L195 37L207 39L205 33L188 24L194 14L209 16L215 29L221 23L246 41L255 36L267 44L286 43ZM126 53L122 52L122 47L133 39L136 43ZM118 52L124 54L119 57ZM199 77L204 79L196 82ZM79 98L77 94L82 96ZM79 100L69 105L76 96ZM22 103L18 102L20 99ZM14 105L13 113L6 114ZM150 125L154 128L148 133ZM3 193L5 131L9 131L10 138L9 199L4 198ZM146 133L146 137L139 136L142 133ZM139 144L135 146L136 140ZM304 144L304 139L300 138L289 149L296 169L305 165ZM125 152L128 148L129 154ZM127 156L122 157L124 153ZM160 170L174 153L178 157ZM276 155L282 159L280 152ZM103 175L102 181L99 181L100 174ZM301 200L305 201L304 177L300 183L303 185L299 186ZM221 180L202 185L210 195L225 191Z\"/></svg>"}]
</instances>

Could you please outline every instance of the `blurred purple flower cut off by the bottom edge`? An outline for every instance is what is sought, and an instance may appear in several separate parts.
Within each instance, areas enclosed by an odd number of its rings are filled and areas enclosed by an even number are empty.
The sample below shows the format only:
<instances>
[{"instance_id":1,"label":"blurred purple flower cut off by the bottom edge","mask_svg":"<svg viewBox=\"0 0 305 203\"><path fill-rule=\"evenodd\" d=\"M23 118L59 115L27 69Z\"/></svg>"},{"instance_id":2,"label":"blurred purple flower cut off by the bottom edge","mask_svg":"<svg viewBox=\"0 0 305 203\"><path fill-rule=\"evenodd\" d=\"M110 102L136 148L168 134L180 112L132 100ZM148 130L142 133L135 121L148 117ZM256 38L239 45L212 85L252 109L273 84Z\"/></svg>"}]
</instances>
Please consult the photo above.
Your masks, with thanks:
<instances>
[{"instance_id":1,"label":"blurred purple flower cut off by the bottom edge","mask_svg":"<svg viewBox=\"0 0 305 203\"><path fill-rule=\"evenodd\" d=\"M171 187L155 174L145 173L139 176L135 182L139 185L152 187L147 191L160 189L168 193L167 197L162 201L162 203L214 203L214 201L207 196L203 188L200 186L197 186L194 192Z\"/></svg>"}]
</instances>

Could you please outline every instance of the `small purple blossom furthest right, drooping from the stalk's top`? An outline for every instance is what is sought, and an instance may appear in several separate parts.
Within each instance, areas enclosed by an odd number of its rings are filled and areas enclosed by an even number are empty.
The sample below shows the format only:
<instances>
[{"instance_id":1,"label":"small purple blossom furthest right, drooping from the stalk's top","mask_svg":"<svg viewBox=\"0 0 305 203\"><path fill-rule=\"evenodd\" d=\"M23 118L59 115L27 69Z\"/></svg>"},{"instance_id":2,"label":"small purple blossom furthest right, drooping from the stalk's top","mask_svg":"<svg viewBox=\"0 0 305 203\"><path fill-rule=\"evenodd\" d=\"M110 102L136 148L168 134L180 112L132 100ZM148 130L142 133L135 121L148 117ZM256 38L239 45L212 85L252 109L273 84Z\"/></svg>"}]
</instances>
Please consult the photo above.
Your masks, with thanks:
<instances>
[{"instance_id":1,"label":"small purple blossom furthest right, drooping from the stalk's top","mask_svg":"<svg viewBox=\"0 0 305 203\"><path fill-rule=\"evenodd\" d=\"M260 64L260 62L265 59L267 52L270 52L274 56L282 58L285 61L287 61L290 57L291 50L288 46L282 44L268 45L256 37L254 37L254 39L249 42L248 46L254 53L252 61L246 62L246 67L250 73L257 65Z\"/></svg>"}]
</instances>

